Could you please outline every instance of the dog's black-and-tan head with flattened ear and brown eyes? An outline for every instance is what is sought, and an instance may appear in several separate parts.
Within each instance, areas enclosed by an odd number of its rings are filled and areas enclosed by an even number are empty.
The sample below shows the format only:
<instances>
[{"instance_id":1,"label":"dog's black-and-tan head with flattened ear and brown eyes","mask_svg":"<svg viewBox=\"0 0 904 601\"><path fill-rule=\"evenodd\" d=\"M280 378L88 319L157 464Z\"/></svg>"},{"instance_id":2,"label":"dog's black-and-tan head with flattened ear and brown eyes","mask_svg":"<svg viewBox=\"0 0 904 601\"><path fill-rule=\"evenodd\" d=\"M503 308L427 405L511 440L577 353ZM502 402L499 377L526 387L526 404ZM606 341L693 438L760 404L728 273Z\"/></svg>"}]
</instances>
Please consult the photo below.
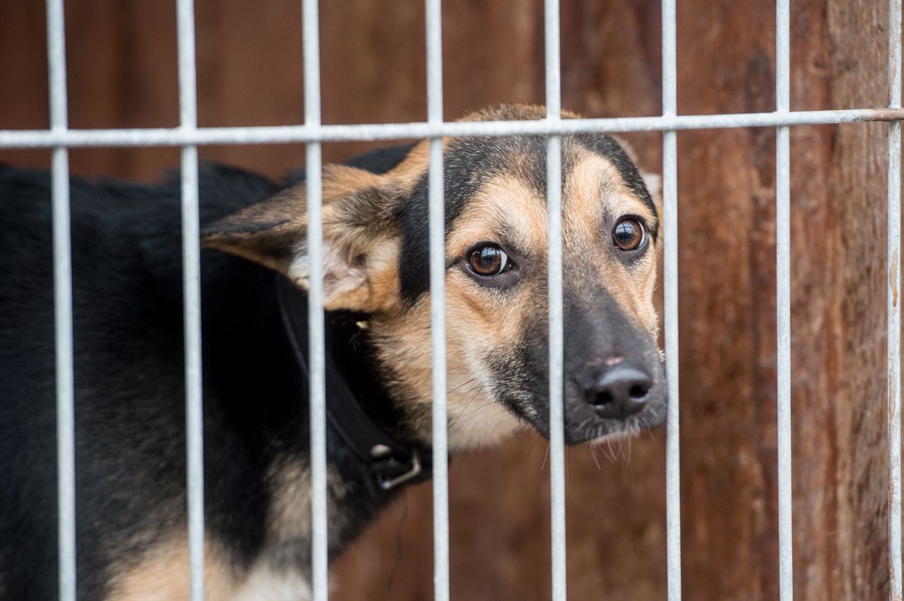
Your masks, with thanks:
<instances>
[{"instance_id":1,"label":"dog's black-and-tan head with flattened ear and brown eyes","mask_svg":"<svg viewBox=\"0 0 904 601\"><path fill-rule=\"evenodd\" d=\"M495 106L469 120L524 120ZM604 134L562 138L565 438L661 424L666 390L653 291L659 219L625 150ZM450 446L527 422L549 434L545 136L444 141ZM369 314L391 390L429 432L428 146L381 175L323 172L326 310ZM205 245L306 288L305 186L205 230Z\"/></svg>"}]
</instances>

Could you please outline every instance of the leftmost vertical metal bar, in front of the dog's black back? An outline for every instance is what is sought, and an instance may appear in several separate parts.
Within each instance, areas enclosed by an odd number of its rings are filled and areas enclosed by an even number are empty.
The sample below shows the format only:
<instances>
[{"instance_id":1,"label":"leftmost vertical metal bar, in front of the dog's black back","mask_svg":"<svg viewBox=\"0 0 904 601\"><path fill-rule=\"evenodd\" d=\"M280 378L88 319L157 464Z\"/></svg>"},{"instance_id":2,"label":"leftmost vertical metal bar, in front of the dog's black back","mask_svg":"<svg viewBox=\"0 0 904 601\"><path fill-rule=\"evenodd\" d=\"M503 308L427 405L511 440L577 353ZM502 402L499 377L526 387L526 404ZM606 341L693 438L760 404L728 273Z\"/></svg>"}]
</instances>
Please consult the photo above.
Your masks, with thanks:
<instances>
[{"instance_id":1,"label":"leftmost vertical metal bar, in front of the dog's black back","mask_svg":"<svg viewBox=\"0 0 904 601\"><path fill-rule=\"evenodd\" d=\"M62 0L47 0L47 58L51 128L69 126L66 106L66 25ZM59 503L60 598L75 601L75 392L72 359L72 257L69 152L53 149L53 316L56 339L57 492Z\"/></svg>"}]
</instances>

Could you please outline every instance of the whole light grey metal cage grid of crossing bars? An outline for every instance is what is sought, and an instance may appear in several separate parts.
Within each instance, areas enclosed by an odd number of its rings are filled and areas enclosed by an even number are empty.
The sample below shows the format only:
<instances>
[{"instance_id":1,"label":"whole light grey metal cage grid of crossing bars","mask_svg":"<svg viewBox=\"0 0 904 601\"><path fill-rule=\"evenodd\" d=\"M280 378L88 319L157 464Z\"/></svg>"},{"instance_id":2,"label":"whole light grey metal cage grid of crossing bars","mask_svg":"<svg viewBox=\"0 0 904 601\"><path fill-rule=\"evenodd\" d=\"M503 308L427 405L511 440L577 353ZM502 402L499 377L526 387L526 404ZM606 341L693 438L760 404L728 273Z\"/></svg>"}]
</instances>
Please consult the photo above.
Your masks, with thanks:
<instances>
[{"instance_id":1,"label":"whole light grey metal cage grid of crossing bars","mask_svg":"<svg viewBox=\"0 0 904 601\"><path fill-rule=\"evenodd\" d=\"M666 525L668 599L681 598L681 519L678 439L678 130L729 127L777 128L777 437L779 590L792 599L791 411L790 411L790 231L789 132L791 125L888 122L888 433L890 596L902 597L900 532L900 119L901 1L889 2L887 107L796 111L790 108L788 0L777 0L776 110L772 113L679 116L676 102L675 0L663 0L662 116L560 120L559 3L545 0L547 117L541 121L445 123L442 119L440 2L427 2L428 120L386 125L321 125L317 0L303 0L305 124L271 127L197 127L193 0L177 0L181 125L171 129L71 130L67 125L66 46L63 0L47 0L51 123L46 131L0 131L0 148L52 148L53 255L57 358L58 461L60 499L60 598L75 599L75 461L73 447L73 358L71 315L71 241L69 228L68 149L84 146L180 146L184 236L184 324L186 419L188 427L188 515L193 600L203 598L203 466L200 337L200 258L198 243L198 160L200 144L306 143L308 240L311 262L310 398L311 478L313 485L312 587L314 599L327 598L325 360L321 208L323 142L429 138L430 285L433 340L433 492L435 598L449 597L448 480L446 416L446 343L444 316L444 244L442 137L460 135L548 134L549 328L551 396L552 598L566 598L565 480L562 381L561 164L560 136L578 132L661 131L664 143L664 331L669 410L666 428Z\"/></svg>"}]
</instances>

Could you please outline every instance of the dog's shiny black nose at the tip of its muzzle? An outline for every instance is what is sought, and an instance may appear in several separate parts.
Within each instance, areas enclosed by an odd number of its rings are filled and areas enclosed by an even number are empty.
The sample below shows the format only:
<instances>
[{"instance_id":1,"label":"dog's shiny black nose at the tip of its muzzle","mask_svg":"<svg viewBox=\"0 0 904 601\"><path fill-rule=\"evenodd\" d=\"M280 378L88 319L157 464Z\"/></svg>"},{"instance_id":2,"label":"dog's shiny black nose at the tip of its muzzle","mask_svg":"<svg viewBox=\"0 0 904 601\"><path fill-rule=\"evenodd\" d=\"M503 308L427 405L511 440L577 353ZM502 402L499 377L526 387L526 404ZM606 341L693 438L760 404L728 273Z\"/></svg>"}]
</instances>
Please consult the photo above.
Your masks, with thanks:
<instances>
[{"instance_id":1,"label":"dog's shiny black nose at the tip of its muzzle","mask_svg":"<svg viewBox=\"0 0 904 601\"><path fill-rule=\"evenodd\" d=\"M594 365L578 380L584 398L600 417L622 420L644 409L653 388L650 374L628 360Z\"/></svg>"}]
</instances>

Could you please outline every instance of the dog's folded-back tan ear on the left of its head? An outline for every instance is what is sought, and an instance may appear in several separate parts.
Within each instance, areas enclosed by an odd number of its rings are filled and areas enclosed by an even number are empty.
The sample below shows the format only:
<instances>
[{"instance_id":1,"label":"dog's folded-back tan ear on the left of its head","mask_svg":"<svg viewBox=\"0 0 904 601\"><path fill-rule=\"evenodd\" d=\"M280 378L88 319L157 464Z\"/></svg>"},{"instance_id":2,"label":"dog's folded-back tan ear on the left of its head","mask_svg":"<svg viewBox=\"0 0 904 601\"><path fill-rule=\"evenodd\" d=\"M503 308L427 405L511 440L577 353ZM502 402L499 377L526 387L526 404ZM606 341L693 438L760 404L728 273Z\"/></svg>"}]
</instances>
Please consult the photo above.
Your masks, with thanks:
<instances>
[{"instance_id":1,"label":"dog's folded-back tan ear on the left of its head","mask_svg":"<svg viewBox=\"0 0 904 601\"><path fill-rule=\"evenodd\" d=\"M326 165L323 173L324 305L389 310L398 294L399 234L388 181L369 171ZM304 183L202 229L202 245L268 266L307 290Z\"/></svg>"}]
</instances>

